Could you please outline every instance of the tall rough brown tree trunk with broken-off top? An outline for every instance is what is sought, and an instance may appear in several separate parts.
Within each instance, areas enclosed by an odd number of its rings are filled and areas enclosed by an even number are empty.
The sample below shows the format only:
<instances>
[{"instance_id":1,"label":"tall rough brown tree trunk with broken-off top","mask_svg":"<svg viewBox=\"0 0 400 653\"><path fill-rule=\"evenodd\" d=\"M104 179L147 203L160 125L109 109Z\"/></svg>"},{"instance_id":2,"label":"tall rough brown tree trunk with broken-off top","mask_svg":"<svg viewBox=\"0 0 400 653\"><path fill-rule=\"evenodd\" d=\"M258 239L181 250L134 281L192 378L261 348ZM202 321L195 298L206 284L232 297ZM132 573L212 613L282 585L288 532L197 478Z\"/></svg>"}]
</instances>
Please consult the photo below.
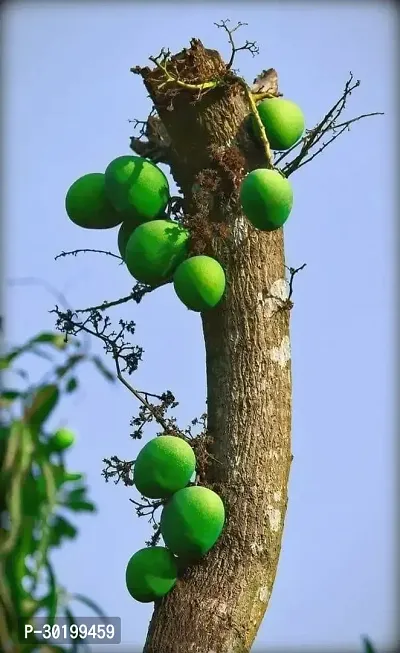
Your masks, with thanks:
<instances>
[{"instance_id":1,"label":"tall rough brown tree trunk with broken-off top","mask_svg":"<svg viewBox=\"0 0 400 653\"><path fill-rule=\"evenodd\" d=\"M226 75L219 54L197 40L172 59L171 70L191 83ZM174 84L160 89L160 68L136 72L171 139L194 245L227 277L223 301L202 315L208 454L200 469L200 483L224 502L226 524L155 606L144 651L248 653L276 576L292 458L289 311L267 297L285 287L283 233L255 230L240 211L240 181L268 163L246 128L250 107L237 79L228 73L226 85L198 97Z\"/></svg>"}]
</instances>

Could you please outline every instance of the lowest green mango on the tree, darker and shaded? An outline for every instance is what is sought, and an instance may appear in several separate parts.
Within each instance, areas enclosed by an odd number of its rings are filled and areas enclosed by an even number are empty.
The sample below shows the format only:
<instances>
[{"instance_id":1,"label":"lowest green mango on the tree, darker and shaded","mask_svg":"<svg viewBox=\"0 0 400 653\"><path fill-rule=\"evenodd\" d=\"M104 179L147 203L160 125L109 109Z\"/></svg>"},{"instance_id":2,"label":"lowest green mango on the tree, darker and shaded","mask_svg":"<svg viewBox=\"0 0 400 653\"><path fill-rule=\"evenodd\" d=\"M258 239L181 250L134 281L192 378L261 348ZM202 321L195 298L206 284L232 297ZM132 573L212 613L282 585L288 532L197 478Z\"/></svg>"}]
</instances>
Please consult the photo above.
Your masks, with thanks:
<instances>
[{"instance_id":1,"label":"lowest green mango on the tree, darker and shaded","mask_svg":"<svg viewBox=\"0 0 400 653\"><path fill-rule=\"evenodd\" d=\"M173 588L178 577L174 556L162 546L137 551L126 567L126 587L136 601L150 603Z\"/></svg>"}]
</instances>

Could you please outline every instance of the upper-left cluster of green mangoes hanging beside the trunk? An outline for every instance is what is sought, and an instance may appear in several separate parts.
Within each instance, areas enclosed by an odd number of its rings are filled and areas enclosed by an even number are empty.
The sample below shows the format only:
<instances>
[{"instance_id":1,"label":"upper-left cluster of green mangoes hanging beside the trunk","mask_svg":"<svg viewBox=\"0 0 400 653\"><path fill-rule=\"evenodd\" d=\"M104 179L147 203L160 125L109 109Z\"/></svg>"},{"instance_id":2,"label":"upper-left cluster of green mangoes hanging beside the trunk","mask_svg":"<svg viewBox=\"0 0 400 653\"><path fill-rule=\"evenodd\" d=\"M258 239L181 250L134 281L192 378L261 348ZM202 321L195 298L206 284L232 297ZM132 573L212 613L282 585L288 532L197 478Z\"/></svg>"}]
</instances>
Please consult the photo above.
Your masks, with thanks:
<instances>
[{"instance_id":1,"label":"upper-left cluster of green mangoes hanging beside the trunk","mask_svg":"<svg viewBox=\"0 0 400 653\"><path fill-rule=\"evenodd\" d=\"M120 156L104 173L90 173L69 188L66 211L84 229L120 225L118 248L130 274L154 288L173 282L178 298L192 311L217 306L225 273L210 256L190 256L190 232L170 220L168 180L139 156Z\"/></svg>"}]
</instances>

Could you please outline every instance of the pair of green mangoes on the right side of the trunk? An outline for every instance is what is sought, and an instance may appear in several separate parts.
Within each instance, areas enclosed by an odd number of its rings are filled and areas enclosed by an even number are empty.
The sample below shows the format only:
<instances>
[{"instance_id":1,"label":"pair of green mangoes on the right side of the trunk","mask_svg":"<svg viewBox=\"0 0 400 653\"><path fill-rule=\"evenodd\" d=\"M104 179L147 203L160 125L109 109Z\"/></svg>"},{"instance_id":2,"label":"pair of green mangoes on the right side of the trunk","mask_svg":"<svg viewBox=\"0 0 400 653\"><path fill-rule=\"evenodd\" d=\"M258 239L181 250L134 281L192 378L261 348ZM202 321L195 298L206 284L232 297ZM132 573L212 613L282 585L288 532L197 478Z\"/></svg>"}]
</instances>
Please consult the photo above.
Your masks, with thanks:
<instances>
[{"instance_id":1,"label":"pair of green mangoes on the right side of the trunk","mask_svg":"<svg viewBox=\"0 0 400 653\"><path fill-rule=\"evenodd\" d=\"M304 133L303 112L290 100L268 98L260 102L257 111L273 150L289 150ZM251 128L258 133L254 116ZM243 179L240 201L243 213L256 229L275 231L285 224L291 213L293 190L278 170L259 168Z\"/></svg>"}]
</instances>

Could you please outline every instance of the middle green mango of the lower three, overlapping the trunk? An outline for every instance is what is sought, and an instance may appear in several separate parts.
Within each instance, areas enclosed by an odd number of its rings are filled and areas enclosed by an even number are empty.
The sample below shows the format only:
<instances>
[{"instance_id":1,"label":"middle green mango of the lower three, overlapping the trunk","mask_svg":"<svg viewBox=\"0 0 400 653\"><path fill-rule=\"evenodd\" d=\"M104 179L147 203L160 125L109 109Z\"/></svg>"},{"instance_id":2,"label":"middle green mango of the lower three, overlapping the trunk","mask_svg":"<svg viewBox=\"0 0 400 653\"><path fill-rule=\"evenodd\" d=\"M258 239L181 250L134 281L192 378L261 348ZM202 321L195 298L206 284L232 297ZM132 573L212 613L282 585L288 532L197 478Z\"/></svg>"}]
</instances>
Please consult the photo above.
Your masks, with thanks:
<instances>
[{"instance_id":1,"label":"middle green mango of the lower three, overlapping the trunk","mask_svg":"<svg viewBox=\"0 0 400 653\"><path fill-rule=\"evenodd\" d=\"M189 562L214 546L224 522L224 504L218 494L201 486L186 487L163 508L161 535L172 553Z\"/></svg>"}]
</instances>

